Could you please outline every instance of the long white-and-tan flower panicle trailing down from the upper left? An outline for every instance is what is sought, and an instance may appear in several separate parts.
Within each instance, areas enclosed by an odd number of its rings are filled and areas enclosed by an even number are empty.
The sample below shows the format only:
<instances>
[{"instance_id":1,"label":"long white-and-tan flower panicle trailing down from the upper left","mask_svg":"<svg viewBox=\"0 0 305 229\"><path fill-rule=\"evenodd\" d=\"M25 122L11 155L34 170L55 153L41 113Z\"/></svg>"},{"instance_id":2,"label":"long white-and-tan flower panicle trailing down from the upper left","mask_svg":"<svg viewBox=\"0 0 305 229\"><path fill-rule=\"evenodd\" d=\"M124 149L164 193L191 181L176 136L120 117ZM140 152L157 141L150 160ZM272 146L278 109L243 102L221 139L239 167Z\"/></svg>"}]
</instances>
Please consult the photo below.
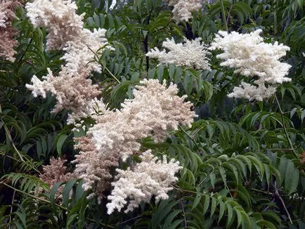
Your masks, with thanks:
<instances>
[{"instance_id":1,"label":"long white-and-tan flower panicle trailing down from the upper left","mask_svg":"<svg viewBox=\"0 0 305 229\"><path fill-rule=\"evenodd\" d=\"M44 81L34 76L32 85L27 84L27 88L34 96L44 98L46 92L51 92L58 101L53 112L70 109L72 114L68 122L74 123L75 119L82 117L86 105L100 94L97 85L92 85L87 78L92 71L101 71L100 65L92 60L107 44L106 30L91 32L85 29L83 15L77 15L77 5L71 0L34 0L25 8L35 27L46 27L46 51L65 51L61 58L65 65L58 76L48 70L48 74L42 77Z\"/></svg>"}]
</instances>

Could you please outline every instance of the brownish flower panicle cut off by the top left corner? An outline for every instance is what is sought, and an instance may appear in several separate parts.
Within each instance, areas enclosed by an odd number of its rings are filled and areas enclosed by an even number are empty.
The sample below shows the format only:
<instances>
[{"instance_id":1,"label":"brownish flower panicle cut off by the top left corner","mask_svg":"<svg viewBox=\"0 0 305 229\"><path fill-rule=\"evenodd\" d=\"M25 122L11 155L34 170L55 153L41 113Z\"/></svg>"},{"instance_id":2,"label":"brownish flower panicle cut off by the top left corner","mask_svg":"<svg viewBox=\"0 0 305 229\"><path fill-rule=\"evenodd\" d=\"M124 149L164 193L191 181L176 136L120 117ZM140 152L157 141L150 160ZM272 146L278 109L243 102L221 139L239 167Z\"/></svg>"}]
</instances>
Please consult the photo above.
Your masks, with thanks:
<instances>
[{"instance_id":1,"label":"brownish flower panicle cut off by the top left corner","mask_svg":"<svg viewBox=\"0 0 305 229\"><path fill-rule=\"evenodd\" d=\"M12 22L17 18L15 10L22 6L21 3L21 0L0 1L0 56L11 62L15 61L14 47L18 45L14 39L18 32L12 27Z\"/></svg>"}]
</instances>

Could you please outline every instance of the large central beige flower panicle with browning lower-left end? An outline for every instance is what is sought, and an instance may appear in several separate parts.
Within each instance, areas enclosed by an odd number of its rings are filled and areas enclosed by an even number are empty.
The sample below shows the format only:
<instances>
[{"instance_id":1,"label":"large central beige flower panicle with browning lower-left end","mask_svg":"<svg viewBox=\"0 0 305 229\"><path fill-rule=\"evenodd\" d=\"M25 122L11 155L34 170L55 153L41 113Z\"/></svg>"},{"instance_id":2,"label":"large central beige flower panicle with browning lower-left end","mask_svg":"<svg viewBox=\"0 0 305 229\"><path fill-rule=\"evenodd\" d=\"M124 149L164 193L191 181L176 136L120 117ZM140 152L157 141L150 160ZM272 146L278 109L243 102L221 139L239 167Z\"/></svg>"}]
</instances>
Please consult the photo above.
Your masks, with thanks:
<instances>
[{"instance_id":1,"label":"large central beige flower panicle with browning lower-left end","mask_svg":"<svg viewBox=\"0 0 305 229\"><path fill-rule=\"evenodd\" d=\"M195 112L186 96L176 96L176 85L160 84L157 79L143 80L134 90L134 98L125 100L121 110L105 110L97 105L100 115L94 115L96 124L79 138L80 150L74 163L76 176L84 180L84 189L93 190L98 199L110 187L110 169L131 155L141 155L141 139L152 137L162 141L168 131L179 124L190 126Z\"/></svg>"}]
</instances>

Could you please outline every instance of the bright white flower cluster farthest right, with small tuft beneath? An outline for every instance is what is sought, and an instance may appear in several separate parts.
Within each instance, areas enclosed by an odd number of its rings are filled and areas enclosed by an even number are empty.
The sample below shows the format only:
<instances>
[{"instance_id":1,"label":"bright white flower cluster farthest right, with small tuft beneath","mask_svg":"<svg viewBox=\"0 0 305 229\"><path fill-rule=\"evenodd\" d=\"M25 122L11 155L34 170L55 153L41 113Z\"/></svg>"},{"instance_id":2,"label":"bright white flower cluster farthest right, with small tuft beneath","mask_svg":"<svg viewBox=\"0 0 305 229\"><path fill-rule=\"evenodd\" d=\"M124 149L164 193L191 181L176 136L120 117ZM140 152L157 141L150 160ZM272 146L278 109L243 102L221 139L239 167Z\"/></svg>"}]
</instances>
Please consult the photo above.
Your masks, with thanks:
<instances>
[{"instance_id":1,"label":"bright white flower cluster farthest right, with small tuft beneath","mask_svg":"<svg viewBox=\"0 0 305 229\"><path fill-rule=\"evenodd\" d=\"M221 66L235 68L235 73L240 73L246 77L258 77L254 81L257 86L243 83L240 87L235 87L229 97L247 98L249 100L263 100L275 93L273 86L266 84L282 84L291 81L285 77L288 74L290 65L281 63L280 58L290 50L283 44L266 44L259 35L261 30L256 30L250 34L239 34L238 32L220 31L210 49L221 49L223 53L217 55L223 61Z\"/></svg>"}]
</instances>

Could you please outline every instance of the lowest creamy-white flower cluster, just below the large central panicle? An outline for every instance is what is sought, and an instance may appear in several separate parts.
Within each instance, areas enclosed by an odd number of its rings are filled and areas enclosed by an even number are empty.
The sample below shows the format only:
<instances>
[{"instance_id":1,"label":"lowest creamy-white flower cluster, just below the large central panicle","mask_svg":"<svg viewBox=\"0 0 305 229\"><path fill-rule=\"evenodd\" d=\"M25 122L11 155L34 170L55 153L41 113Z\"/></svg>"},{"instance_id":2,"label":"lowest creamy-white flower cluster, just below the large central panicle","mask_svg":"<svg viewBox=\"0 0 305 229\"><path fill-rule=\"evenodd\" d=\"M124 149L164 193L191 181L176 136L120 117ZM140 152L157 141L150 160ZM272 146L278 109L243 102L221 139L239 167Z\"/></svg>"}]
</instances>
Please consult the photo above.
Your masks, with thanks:
<instances>
[{"instance_id":1,"label":"lowest creamy-white flower cluster, just below the large central panicle","mask_svg":"<svg viewBox=\"0 0 305 229\"><path fill-rule=\"evenodd\" d=\"M151 150L143 152L140 157L142 161L134 168L117 169L117 181L111 183L114 189L108 196L108 214L115 209L121 211L127 203L124 212L133 211L141 202L149 202L153 195L157 202L168 198L167 192L173 189L171 183L178 180L175 174L182 168L179 162L174 159L167 162L165 156L160 161L152 155Z\"/></svg>"}]
</instances>

